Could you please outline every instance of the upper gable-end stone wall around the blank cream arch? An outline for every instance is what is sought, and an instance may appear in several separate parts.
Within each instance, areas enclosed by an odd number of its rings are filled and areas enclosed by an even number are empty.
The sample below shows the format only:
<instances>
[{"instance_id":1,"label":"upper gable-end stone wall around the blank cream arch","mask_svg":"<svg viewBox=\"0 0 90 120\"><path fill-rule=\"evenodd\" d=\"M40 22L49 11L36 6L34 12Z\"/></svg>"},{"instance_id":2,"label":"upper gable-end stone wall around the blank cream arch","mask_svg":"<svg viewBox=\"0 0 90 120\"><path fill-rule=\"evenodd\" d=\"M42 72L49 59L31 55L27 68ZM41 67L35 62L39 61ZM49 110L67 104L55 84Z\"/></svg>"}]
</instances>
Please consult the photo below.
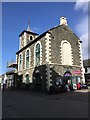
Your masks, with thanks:
<instances>
[{"instance_id":1,"label":"upper gable-end stone wall around the blank cream arch","mask_svg":"<svg viewBox=\"0 0 90 120\"><path fill-rule=\"evenodd\" d=\"M79 38L67 26L59 26L56 29L52 29L51 33L53 35L51 39L51 62L62 64L61 42L67 40L72 48L73 65L80 66Z\"/></svg>"}]
</instances>

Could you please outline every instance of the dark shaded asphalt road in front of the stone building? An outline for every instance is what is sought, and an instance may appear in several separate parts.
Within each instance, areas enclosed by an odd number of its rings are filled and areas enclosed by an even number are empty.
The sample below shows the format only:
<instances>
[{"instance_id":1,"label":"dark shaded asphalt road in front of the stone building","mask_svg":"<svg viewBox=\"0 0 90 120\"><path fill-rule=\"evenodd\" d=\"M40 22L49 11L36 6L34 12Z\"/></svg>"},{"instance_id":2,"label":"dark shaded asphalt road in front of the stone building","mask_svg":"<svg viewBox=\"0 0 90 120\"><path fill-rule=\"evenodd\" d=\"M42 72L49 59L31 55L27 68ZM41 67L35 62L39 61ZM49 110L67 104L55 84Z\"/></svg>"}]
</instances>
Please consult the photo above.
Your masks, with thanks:
<instances>
[{"instance_id":1,"label":"dark shaded asphalt road in front of the stone building","mask_svg":"<svg viewBox=\"0 0 90 120\"><path fill-rule=\"evenodd\" d=\"M3 118L88 118L88 93L4 91Z\"/></svg>"}]
</instances>

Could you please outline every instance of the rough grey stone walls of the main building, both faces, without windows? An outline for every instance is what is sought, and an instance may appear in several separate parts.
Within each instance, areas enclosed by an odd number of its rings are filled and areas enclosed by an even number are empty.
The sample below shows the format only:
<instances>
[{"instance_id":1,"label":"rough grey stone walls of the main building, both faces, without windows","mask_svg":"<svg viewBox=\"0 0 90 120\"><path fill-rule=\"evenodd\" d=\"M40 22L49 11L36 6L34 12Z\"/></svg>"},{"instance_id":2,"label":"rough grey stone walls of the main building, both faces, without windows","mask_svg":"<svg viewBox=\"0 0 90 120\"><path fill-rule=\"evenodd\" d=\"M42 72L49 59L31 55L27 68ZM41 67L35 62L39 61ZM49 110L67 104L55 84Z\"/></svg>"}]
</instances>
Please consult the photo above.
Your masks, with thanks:
<instances>
[{"instance_id":1,"label":"rough grey stone walls of the main building, both faces, without windows","mask_svg":"<svg viewBox=\"0 0 90 120\"><path fill-rule=\"evenodd\" d=\"M73 56L72 66L62 64L61 42L63 40L67 40L71 44ZM34 80L36 79L35 74L38 71L41 76L41 90L45 91L46 87L49 90L49 87L55 84L55 79L59 76L63 76L67 70L70 70L71 73L74 70L80 70L81 58L78 40L79 38L67 26L58 26L55 29L50 29L45 36L37 41L41 42L42 45L42 63L40 66L34 66L34 47L37 42L29 46L31 51L29 69L25 69L26 49L22 51L23 70L18 71L18 74L23 75L23 82L25 83L26 74L29 74L31 82L34 85ZM79 76L81 76L81 74Z\"/></svg>"}]
</instances>

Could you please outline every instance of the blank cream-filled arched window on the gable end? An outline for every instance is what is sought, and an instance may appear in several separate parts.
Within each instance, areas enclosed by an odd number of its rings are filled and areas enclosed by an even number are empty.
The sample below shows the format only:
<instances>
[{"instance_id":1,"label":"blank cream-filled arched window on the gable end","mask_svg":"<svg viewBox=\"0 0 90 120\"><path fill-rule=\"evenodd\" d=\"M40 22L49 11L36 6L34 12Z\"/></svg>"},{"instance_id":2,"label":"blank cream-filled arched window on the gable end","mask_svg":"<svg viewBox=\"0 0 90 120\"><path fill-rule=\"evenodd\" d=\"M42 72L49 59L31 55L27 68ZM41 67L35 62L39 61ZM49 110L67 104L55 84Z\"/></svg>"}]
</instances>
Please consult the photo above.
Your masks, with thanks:
<instances>
[{"instance_id":1,"label":"blank cream-filled arched window on the gable end","mask_svg":"<svg viewBox=\"0 0 90 120\"><path fill-rule=\"evenodd\" d=\"M72 65L72 52L70 43L66 40L62 41L61 48L62 48L62 64Z\"/></svg>"}]
</instances>

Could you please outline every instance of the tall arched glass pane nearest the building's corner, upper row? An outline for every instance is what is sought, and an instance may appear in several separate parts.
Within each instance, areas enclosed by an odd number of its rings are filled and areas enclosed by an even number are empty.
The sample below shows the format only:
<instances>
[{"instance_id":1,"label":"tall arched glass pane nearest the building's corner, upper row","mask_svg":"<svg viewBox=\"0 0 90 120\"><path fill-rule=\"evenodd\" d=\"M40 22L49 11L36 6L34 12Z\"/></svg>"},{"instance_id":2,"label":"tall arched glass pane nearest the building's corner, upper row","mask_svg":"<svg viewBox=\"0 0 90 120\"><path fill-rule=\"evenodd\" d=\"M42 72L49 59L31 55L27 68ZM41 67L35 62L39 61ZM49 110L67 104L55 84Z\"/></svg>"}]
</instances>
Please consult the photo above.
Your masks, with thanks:
<instances>
[{"instance_id":1,"label":"tall arched glass pane nearest the building's corner, upper row","mask_svg":"<svg viewBox=\"0 0 90 120\"><path fill-rule=\"evenodd\" d=\"M35 47L35 66L38 65L40 65L40 43L37 43Z\"/></svg>"}]
</instances>

